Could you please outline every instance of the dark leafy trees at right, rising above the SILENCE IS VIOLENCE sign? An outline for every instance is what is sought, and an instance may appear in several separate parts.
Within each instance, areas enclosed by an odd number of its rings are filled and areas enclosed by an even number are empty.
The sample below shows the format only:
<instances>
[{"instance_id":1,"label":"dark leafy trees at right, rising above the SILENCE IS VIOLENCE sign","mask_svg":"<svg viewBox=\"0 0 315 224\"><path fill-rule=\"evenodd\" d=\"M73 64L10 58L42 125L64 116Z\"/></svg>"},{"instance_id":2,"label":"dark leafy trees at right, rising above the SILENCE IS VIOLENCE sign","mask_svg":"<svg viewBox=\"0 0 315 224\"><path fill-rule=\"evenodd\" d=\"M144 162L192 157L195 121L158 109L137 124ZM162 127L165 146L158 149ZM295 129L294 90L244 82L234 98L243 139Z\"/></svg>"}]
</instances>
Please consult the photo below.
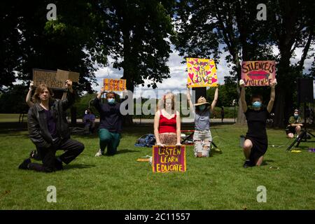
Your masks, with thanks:
<instances>
[{"instance_id":1,"label":"dark leafy trees at right, rising above the SILENCE IS VIOLENCE sign","mask_svg":"<svg viewBox=\"0 0 315 224\"><path fill-rule=\"evenodd\" d=\"M255 9L258 3L267 5L266 21L256 19L258 10ZM235 81L241 78L241 61L277 59L279 86L276 87L275 124L279 127L283 125L284 109L291 105L294 80L297 76L297 70L290 66L290 58L297 46L306 43L299 64L301 69L313 38L312 8L314 2L309 0L303 2L238 0L229 3L180 1L176 8L177 49L182 55L201 54L202 57L217 58L218 54L221 54L220 44L223 43L223 50L230 54L225 59L232 66L231 75ZM212 39L213 45L204 44L209 39ZM278 46L280 50L279 58L272 52L273 45ZM241 107L237 123L244 123Z\"/></svg>"}]
</instances>

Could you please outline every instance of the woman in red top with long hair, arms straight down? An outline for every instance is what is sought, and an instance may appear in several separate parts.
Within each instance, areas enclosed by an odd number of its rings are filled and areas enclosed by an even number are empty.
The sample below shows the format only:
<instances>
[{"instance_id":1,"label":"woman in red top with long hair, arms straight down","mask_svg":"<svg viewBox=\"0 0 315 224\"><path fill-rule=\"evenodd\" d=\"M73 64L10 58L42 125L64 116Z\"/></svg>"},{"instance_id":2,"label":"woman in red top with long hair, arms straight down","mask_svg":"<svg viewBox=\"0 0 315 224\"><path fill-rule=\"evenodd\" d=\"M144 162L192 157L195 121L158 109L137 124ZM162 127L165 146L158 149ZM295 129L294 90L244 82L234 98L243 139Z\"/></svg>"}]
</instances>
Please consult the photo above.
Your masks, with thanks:
<instances>
[{"instance_id":1,"label":"woman in red top with long hair, arms straight down","mask_svg":"<svg viewBox=\"0 0 315 224\"><path fill-rule=\"evenodd\" d=\"M181 116L174 105L174 94L165 94L155 113L154 134L158 146L181 146Z\"/></svg>"}]
</instances>

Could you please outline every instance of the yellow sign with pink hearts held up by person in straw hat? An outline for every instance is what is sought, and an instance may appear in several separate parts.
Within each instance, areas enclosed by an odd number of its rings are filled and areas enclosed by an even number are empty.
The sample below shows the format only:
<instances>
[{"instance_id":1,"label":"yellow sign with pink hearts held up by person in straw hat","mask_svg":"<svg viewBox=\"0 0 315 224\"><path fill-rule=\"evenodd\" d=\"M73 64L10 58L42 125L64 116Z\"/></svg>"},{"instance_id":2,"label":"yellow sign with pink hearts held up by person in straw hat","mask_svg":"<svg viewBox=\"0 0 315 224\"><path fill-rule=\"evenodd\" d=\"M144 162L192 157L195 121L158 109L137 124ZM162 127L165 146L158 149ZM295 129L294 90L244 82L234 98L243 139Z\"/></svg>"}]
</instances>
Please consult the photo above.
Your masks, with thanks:
<instances>
[{"instance_id":1,"label":"yellow sign with pink hearts held up by person in straw hat","mask_svg":"<svg viewBox=\"0 0 315 224\"><path fill-rule=\"evenodd\" d=\"M213 59L186 58L189 87L218 86L216 64Z\"/></svg>"}]
</instances>

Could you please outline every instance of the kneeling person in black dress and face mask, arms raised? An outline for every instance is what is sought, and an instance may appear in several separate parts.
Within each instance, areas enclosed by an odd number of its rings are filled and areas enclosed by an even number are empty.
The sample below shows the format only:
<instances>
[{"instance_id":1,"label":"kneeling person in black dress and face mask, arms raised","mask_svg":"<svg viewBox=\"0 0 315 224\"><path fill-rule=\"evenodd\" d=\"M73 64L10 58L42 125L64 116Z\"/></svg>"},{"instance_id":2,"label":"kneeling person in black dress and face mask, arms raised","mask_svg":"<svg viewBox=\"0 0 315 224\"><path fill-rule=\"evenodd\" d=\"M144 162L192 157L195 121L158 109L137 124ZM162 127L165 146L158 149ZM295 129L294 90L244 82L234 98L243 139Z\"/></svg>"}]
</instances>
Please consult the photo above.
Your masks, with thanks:
<instances>
[{"instance_id":1,"label":"kneeling person in black dress and face mask, arms raised","mask_svg":"<svg viewBox=\"0 0 315 224\"><path fill-rule=\"evenodd\" d=\"M268 147L266 121L274 106L276 79L270 84L271 92L267 108L262 108L262 97L260 95L253 95L251 97L253 109L248 109L245 100L244 80L240 80L239 85L241 86L241 107L245 113L248 126L243 146L246 159L243 167L260 166Z\"/></svg>"}]
</instances>

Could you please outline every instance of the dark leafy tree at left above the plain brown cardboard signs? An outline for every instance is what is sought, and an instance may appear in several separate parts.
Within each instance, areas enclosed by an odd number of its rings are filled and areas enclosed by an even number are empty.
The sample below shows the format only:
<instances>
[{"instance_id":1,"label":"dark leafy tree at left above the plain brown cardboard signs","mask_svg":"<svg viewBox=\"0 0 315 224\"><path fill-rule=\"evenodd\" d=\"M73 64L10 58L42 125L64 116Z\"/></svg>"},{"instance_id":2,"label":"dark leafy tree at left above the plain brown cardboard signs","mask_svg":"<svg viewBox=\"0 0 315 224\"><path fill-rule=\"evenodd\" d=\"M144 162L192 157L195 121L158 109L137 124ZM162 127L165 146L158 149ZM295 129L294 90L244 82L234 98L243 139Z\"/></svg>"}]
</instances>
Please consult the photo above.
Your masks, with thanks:
<instances>
[{"instance_id":1,"label":"dark leafy tree at left above the plain brown cardboard signs","mask_svg":"<svg viewBox=\"0 0 315 224\"><path fill-rule=\"evenodd\" d=\"M109 54L104 45L99 47L97 3L54 1L57 20L50 21L46 18L48 3L11 1L1 7L0 19L6 22L6 31L1 32L1 48L10 52L6 60L1 60L7 78L6 83L1 79L1 86L12 85L14 71L16 78L28 81L34 68L64 69L80 73L79 83L75 84L79 92L92 92L92 83L96 83L93 72L97 64L106 63ZM109 34L102 34L102 43L109 41L106 36Z\"/></svg>"}]
</instances>

